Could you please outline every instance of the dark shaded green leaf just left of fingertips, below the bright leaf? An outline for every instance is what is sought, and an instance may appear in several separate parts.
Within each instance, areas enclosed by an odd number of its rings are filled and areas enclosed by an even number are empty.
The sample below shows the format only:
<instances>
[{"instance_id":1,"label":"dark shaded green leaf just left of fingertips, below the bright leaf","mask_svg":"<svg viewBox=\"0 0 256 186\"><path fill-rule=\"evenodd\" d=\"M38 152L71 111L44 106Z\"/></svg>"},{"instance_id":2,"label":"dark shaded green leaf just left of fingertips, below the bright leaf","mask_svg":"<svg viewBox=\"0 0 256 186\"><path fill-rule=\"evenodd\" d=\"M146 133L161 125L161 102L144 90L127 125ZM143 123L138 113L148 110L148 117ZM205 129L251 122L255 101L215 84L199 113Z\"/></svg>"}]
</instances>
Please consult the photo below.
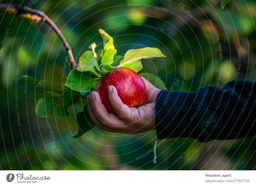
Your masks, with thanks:
<instances>
[{"instance_id":1,"label":"dark shaded green leaf just left of fingertips, below the bright leaf","mask_svg":"<svg viewBox=\"0 0 256 186\"><path fill-rule=\"evenodd\" d=\"M68 107L78 102L80 92L68 90L59 97L56 105L57 118L65 118L68 116Z\"/></svg>"}]
</instances>

